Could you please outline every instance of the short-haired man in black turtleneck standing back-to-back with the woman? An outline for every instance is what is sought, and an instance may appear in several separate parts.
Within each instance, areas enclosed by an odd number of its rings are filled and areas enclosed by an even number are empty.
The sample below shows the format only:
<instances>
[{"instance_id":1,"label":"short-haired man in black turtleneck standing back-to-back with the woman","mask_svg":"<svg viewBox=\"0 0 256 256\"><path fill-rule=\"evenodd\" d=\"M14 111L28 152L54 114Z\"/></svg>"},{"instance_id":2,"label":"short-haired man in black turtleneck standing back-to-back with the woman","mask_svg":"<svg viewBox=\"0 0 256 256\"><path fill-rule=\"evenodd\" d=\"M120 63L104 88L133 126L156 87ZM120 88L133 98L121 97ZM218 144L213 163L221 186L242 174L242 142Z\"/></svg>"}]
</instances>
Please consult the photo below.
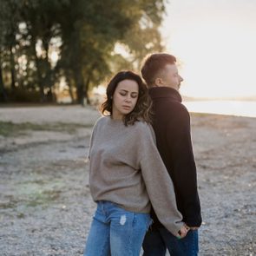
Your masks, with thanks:
<instances>
[{"instance_id":1,"label":"short-haired man in black turtleneck standing back-to-back with the woman","mask_svg":"<svg viewBox=\"0 0 256 256\"><path fill-rule=\"evenodd\" d=\"M157 148L174 182L177 207L189 231L178 240L161 225L154 209L154 224L143 242L144 256L194 256L198 249L201 224L196 167L190 134L190 116L181 104L179 89L183 81L174 56L157 53L146 57L141 74L153 100L153 128ZM163 199L164 200L164 199Z\"/></svg>"}]
</instances>

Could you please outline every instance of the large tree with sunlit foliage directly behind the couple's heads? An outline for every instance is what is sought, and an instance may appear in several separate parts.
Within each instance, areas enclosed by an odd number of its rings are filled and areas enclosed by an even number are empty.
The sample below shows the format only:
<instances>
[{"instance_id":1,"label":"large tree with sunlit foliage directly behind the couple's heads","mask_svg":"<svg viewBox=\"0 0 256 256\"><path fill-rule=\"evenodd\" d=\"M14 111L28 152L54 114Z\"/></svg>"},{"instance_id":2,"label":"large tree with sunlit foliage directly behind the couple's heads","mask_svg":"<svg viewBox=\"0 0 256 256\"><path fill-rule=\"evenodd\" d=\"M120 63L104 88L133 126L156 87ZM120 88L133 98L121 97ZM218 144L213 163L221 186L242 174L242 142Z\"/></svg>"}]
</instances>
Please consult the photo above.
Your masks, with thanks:
<instances>
[{"instance_id":1,"label":"large tree with sunlit foliage directly behind the couple's heads","mask_svg":"<svg viewBox=\"0 0 256 256\"><path fill-rule=\"evenodd\" d=\"M65 12L60 67L71 63L69 75L74 75L77 102L87 97L89 82L96 84L121 66L138 69L146 53L162 49L158 27L163 11L163 1L80 0ZM113 54L117 42L128 47L130 60Z\"/></svg>"}]
</instances>

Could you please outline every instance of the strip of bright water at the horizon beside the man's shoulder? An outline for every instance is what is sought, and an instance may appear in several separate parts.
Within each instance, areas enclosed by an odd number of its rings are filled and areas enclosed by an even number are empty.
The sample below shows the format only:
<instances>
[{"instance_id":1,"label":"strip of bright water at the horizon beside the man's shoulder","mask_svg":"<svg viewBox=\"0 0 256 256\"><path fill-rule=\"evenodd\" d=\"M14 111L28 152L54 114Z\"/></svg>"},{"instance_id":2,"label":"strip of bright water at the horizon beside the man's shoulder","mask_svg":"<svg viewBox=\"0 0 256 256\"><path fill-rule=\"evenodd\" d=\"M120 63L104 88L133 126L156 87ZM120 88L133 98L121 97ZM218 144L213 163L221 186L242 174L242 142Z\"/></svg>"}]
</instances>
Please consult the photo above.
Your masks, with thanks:
<instances>
[{"instance_id":1,"label":"strip of bright water at the horizon beside the man's shoulder","mask_svg":"<svg viewBox=\"0 0 256 256\"><path fill-rule=\"evenodd\" d=\"M199 101L183 102L189 112L256 117L256 102Z\"/></svg>"}]
</instances>

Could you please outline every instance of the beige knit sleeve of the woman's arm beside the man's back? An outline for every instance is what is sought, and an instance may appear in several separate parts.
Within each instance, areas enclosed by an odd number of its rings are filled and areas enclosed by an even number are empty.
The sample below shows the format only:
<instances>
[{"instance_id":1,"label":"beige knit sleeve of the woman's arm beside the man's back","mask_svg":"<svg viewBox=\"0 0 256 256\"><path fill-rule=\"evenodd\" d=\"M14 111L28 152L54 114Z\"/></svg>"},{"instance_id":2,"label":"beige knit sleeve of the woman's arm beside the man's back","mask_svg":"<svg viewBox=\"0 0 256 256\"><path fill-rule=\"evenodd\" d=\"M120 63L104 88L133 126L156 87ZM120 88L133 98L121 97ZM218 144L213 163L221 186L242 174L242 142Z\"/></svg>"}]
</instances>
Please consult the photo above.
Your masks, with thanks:
<instances>
[{"instance_id":1,"label":"beige knit sleeve of the woman's arm beside the man's back","mask_svg":"<svg viewBox=\"0 0 256 256\"><path fill-rule=\"evenodd\" d=\"M173 181L167 174L167 169L155 145L153 128L145 124L139 136L138 154L141 154L141 173L149 200L162 225L178 236L184 223L176 206Z\"/></svg>"}]
</instances>

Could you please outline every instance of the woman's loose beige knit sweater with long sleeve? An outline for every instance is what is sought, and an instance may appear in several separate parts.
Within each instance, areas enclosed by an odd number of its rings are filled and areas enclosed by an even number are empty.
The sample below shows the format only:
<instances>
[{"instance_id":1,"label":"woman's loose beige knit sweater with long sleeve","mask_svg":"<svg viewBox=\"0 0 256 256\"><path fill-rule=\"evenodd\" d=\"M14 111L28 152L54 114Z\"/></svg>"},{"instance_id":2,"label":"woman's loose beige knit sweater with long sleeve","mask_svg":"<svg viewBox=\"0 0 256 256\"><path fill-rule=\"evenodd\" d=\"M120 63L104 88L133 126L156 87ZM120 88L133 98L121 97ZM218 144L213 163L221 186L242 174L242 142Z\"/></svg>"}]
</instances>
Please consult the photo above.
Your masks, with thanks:
<instances>
[{"instance_id":1,"label":"woman's loose beige knit sweater with long sleeve","mask_svg":"<svg viewBox=\"0 0 256 256\"><path fill-rule=\"evenodd\" d=\"M123 121L101 117L91 136L89 163L93 200L108 200L135 213L149 213L152 204L161 223L178 234L182 216L151 126L136 121L126 127Z\"/></svg>"}]
</instances>

